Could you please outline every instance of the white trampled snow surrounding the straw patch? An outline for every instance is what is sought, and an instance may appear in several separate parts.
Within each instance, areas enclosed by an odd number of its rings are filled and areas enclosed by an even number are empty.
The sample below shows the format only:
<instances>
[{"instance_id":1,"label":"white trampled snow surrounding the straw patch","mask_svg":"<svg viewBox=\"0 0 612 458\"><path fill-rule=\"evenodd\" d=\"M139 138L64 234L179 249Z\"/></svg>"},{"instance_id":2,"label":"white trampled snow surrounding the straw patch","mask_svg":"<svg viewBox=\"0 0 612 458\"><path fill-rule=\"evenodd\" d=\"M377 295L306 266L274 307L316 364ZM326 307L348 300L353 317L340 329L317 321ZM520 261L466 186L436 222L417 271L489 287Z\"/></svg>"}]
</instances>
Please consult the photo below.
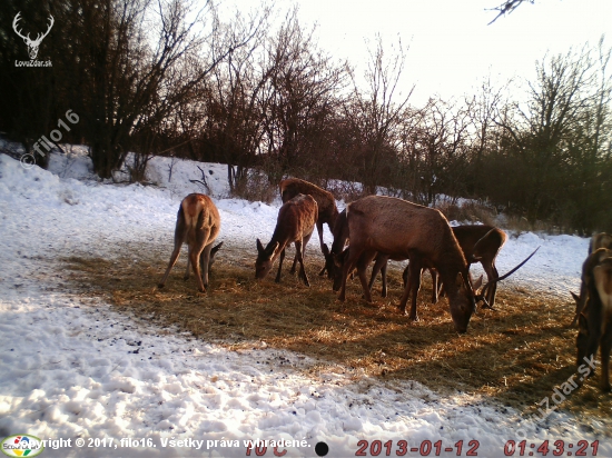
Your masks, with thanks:
<instances>
[{"instance_id":1,"label":"white trampled snow surrounding the straw patch","mask_svg":"<svg viewBox=\"0 0 612 458\"><path fill-rule=\"evenodd\" d=\"M557 439L574 445L598 439L589 432L596 425L583 429L563 412L536 424L486 398L443 397L416 382L355 384L336 374L309 379L295 369L305 364L300 355L258 342L258 349L228 351L142 329L65 287L58 257L113 258L118 246L134 240L154 241L169 255L181 198L203 191L188 181L200 178L194 162L176 161L171 181L169 165L168 158L152 159L149 180L158 187L120 186L92 180L82 151L52 155L50 171L26 170L0 155L0 439L18 434L70 439L70 447L63 442L42 455L58 457L255 456L245 441L256 439L293 441L276 450L286 450L286 457L317 456L320 441L329 447L327 456L355 456L361 440L368 441L366 456L376 451L375 440L391 440L392 456L401 440L408 442L406 456L421 455L409 448L426 450L426 441L442 440L438 456L448 457L457 455L458 441L466 456L474 445L468 442L477 440L477 456L502 457L506 440L537 447L550 439L552 449ZM272 235L279 201L229 199L225 166L199 166L220 210L219 240L253 247L254 256L255 238ZM588 247L578 237L511 237L500 271L540 245L507 281L552 295L576 290ZM612 457L612 441L599 439L598 456ZM383 447L381 455L386 451ZM273 448L261 456L275 456Z\"/></svg>"}]
</instances>

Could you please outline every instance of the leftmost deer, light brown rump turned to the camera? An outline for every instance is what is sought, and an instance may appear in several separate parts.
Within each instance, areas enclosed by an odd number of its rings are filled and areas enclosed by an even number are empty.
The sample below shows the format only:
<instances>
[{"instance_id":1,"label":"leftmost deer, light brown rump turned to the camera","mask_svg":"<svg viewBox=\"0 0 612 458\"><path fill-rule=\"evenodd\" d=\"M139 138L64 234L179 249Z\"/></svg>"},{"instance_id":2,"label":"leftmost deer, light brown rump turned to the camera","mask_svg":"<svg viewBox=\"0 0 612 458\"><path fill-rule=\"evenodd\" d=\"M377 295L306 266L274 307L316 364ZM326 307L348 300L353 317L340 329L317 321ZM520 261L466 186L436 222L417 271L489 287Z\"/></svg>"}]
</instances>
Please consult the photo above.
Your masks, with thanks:
<instances>
[{"instance_id":1,"label":"leftmost deer, light brown rump turned to the camera","mask_svg":"<svg viewBox=\"0 0 612 458\"><path fill-rule=\"evenodd\" d=\"M182 243L187 243L189 255L187 259L187 272L185 279L189 278L189 263L196 275L198 290L206 292L208 287L208 275L214 262L216 252L221 243L213 249L213 242L219 235L221 218L213 200L205 195L193 193L180 202L175 229L175 249L170 256L168 268L158 287L164 288L170 270L175 266L180 253ZM213 251L214 250L214 251ZM200 268L201 265L201 268Z\"/></svg>"}]
</instances>

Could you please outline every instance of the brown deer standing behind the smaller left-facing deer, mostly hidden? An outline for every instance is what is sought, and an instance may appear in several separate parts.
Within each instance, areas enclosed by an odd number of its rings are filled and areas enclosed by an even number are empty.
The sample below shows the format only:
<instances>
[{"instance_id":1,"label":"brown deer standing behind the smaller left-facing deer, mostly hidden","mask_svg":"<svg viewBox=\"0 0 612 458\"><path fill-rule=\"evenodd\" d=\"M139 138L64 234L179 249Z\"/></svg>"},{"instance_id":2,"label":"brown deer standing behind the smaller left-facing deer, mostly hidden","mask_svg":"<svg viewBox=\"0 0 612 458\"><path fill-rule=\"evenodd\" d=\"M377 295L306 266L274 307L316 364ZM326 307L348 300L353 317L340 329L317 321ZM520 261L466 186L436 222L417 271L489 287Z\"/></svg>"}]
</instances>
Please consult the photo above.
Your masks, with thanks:
<instances>
[{"instance_id":1,"label":"brown deer standing behind the smaller left-facing deer, mostly hidden","mask_svg":"<svg viewBox=\"0 0 612 458\"><path fill-rule=\"evenodd\" d=\"M299 178L287 178L278 185L280 191L280 199L283 203L292 200L297 195L309 195L315 199L318 206L318 216L317 216L317 232L320 245L320 250L325 253L324 243L323 243L323 225L327 225L329 230L334 231L334 225L338 217L338 209L336 207L336 199L332 192L326 191L325 189L319 188L312 182L300 180ZM295 259L293 270L295 270ZM325 273L326 266L324 266L319 276Z\"/></svg>"}]
</instances>

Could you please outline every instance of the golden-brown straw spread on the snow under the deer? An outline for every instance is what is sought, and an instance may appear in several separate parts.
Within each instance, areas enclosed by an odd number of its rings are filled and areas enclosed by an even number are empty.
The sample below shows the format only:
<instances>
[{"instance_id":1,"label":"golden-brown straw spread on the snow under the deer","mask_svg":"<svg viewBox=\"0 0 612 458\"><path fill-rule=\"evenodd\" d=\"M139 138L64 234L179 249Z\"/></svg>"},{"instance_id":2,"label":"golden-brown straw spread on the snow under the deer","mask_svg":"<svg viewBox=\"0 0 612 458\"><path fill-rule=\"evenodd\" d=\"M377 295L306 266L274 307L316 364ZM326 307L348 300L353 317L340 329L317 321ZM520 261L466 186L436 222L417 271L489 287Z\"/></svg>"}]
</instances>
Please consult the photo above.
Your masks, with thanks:
<instances>
[{"instance_id":1,"label":"golden-brown straw spread on the snow under the deer","mask_svg":"<svg viewBox=\"0 0 612 458\"><path fill-rule=\"evenodd\" d=\"M226 243L228 245L228 243ZM225 247L214 266L207 293L197 292L191 276L182 281L185 253L165 289L156 285L171 247L126 247L125 257L66 259L71 286L108 300L118 311L136 319L151 317L159 327L177 326L196 338L229 349L286 349L314 358L305 370L333 370L379 380L416 380L441 394L456 390L491 397L525 414L553 395L575 370L576 330L569 328L573 305L537 291L501 285L497 311L478 310L466 335L454 331L445 298L430 303L428 275L418 300L419 321L397 312L401 270L389 269L389 296L375 285L374 303L361 299L358 280L351 282L346 302L338 302L326 278L317 272L323 258L309 247L307 272L312 287L288 273L293 252L284 266L255 280L255 247ZM137 260L137 261L135 261ZM275 269L276 269L275 265ZM599 376L599 374L598 374ZM606 422L612 396L601 394L589 380L562 404L590 424Z\"/></svg>"}]
</instances>

